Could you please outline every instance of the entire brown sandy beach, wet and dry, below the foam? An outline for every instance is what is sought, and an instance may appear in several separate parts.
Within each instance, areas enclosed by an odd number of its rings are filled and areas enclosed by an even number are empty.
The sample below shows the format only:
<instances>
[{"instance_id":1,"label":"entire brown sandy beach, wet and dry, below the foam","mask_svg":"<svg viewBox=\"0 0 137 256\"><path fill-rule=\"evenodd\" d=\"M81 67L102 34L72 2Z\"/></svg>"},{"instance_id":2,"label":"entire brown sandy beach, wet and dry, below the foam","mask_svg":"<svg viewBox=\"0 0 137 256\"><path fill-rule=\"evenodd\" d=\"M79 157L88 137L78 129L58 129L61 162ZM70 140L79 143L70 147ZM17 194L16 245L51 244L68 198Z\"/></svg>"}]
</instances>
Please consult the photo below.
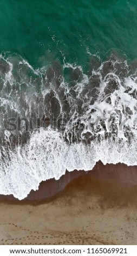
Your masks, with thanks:
<instances>
[{"instance_id":1,"label":"entire brown sandy beach, wet and dry, below the foam","mask_svg":"<svg viewBox=\"0 0 137 256\"><path fill-rule=\"evenodd\" d=\"M136 245L137 167L97 163L42 182L19 201L1 196L1 245Z\"/></svg>"}]
</instances>

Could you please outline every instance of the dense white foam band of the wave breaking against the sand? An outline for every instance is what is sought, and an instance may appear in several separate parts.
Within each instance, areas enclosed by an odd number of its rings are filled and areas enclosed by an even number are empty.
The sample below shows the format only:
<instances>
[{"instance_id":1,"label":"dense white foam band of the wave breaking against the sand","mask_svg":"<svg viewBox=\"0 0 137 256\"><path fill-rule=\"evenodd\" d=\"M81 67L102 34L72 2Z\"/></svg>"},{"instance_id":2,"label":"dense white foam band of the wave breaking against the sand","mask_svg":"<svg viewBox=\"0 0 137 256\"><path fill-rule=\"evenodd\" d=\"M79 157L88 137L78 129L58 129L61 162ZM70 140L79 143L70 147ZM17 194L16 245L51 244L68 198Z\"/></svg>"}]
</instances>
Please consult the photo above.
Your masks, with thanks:
<instances>
[{"instance_id":1,"label":"dense white foam band of the wave breaking against the sand","mask_svg":"<svg viewBox=\"0 0 137 256\"><path fill-rule=\"evenodd\" d=\"M27 145L17 147L9 155L10 162L4 166L0 162L0 193L14 194L20 200L27 197L31 189L37 190L42 180L59 179L66 169L69 172L74 169L92 170L99 160L104 164L137 164L135 143L119 144L109 139L87 146L83 143L67 145L61 134L51 129L32 133Z\"/></svg>"}]
</instances>

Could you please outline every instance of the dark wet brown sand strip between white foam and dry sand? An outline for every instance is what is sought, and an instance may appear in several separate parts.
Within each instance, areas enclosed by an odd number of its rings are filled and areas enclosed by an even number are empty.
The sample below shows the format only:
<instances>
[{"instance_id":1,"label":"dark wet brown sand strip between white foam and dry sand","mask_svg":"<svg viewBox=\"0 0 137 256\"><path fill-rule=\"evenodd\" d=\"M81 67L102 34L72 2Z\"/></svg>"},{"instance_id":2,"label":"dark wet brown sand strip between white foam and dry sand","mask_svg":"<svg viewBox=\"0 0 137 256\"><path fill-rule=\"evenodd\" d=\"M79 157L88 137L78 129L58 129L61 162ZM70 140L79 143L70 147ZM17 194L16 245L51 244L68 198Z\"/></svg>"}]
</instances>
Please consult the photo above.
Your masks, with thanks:
<instances>
[{"instance_id":1,"label":"dark wet brown sand strip between white foam and dry sand","mask_svg":"<svg viewBox=\"0 0 137 256\"><path fill-rule=\"evenodd\" d=\"M77 185L77 179L79 178L85 180L89 179L91 184L93 180L96 182L107 182L108 184L113 184L116 182L123 190L126 188L133 188L137 186L137 166L127 166L123 163L117 164L106 164L104 165L101 161L97 162L92 170L73 170L61 176L60 179L50 179L47 181L42 181L38 187L38 190L31 190L28 196L22 200L15 198L12 194L2 195L0 194L0 203L8 204L30 204L37 205L46 202L51 202L66 189L71 182L74 181L75 186L80 189L80 184ZM84 182L83 182L84 183ZM82 185L83 185L82 183ZM100 188L99 188L100 190Z\"/></svg>"}]
</instances>

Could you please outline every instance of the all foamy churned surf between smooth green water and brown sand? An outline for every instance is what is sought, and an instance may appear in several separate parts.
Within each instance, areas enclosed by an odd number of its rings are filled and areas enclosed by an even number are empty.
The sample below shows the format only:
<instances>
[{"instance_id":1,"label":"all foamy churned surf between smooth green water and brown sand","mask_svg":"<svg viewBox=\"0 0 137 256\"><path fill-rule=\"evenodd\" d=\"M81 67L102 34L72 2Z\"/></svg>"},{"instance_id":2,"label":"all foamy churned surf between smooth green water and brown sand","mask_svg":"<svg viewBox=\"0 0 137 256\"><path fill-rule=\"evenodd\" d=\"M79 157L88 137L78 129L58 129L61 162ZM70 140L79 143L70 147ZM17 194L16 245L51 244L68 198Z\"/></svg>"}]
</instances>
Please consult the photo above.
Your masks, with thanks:
<instances>
[{"instance_id":1,"label":"all foamy churned surf between smooth green water and brown sand","mask_svg":"<svg viewBox=\"0 0 137 256\"><path fill-rule=\"evenodd\" d=\"M68 169L137 164L136 64L112 54L89 70L54 60L34 70L20 56L0 59L0 194L27 197Z\"/></svg>"}]
</instances>

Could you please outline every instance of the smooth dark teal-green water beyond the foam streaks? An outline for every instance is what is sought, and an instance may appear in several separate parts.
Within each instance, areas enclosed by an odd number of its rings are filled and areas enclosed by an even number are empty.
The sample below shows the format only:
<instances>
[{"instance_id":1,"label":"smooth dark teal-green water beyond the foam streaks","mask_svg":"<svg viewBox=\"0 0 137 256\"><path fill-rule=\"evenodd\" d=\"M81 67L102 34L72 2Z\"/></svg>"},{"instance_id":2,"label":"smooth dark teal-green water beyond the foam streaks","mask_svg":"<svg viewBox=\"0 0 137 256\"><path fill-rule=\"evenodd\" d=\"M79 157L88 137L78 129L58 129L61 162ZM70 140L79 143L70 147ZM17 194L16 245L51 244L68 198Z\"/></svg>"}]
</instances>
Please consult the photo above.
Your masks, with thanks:
<instances>
[{"instance_id":1,"label":"smooth dark teal-green water beyond the foam streaks","mask_svg":"<svg viewBox=\"0 0 137 256\"><path fill-rule=\"evenodd\" d=\"M58 58L82 66L89 51L115 49L137 57L135 0L1 0L0 52L18 53L35 67Z\"/></svg>"}]
</instances>

